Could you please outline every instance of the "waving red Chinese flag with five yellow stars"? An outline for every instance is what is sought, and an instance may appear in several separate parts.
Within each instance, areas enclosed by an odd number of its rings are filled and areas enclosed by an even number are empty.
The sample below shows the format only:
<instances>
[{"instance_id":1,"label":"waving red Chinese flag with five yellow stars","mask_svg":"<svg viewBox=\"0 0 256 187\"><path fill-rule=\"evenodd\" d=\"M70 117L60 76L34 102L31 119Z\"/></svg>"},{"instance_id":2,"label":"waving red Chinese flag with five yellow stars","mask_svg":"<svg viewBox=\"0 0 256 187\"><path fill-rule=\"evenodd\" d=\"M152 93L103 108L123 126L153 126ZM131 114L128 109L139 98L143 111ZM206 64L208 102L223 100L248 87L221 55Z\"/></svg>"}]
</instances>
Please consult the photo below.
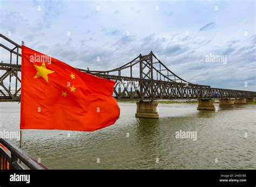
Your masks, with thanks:
<instances>
[{"instance_id":1,"label":"waving red Chinese flag with five yellow stars","mask_svg":"<svg viewBox=\"0 0 256 187\"><path fill-rule=\"evenodd\" d=\"M110 126L120 114L112 97L114 84L22 46L21 129Z\"/></svg>"}]
</instances>

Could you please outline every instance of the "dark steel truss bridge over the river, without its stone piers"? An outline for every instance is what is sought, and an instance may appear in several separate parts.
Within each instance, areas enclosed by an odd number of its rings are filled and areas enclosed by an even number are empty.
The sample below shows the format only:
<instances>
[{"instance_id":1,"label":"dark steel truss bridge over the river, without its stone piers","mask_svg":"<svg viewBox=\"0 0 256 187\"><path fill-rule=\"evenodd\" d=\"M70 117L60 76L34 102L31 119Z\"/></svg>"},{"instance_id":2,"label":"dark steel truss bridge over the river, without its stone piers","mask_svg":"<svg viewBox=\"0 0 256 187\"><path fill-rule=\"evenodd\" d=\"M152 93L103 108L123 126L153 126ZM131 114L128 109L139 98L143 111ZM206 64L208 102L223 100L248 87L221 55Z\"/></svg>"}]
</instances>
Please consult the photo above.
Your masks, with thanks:
<instances>
[{"instance_id":1,"label":"dark steel truss bridge over the river, without its stone piers","mask_svg":"<svg viewBox=\"0 0 256 187\"><path fill-rule=\"evenodd\" d=\"M21 95L21 45L0 34L7 44L0 44L10 54L10 61L0 62L0 102L19 102ZM12 46L12 47L9 47ZM1 55L2 59L2 55ZM116 81L113 97L118 99L207 99L255 98L256 92L211 88L193 84L174 74L153 52L139 54L123 66L107 70L85 70L98 77Z\"/></svg>"}]
</instances>

